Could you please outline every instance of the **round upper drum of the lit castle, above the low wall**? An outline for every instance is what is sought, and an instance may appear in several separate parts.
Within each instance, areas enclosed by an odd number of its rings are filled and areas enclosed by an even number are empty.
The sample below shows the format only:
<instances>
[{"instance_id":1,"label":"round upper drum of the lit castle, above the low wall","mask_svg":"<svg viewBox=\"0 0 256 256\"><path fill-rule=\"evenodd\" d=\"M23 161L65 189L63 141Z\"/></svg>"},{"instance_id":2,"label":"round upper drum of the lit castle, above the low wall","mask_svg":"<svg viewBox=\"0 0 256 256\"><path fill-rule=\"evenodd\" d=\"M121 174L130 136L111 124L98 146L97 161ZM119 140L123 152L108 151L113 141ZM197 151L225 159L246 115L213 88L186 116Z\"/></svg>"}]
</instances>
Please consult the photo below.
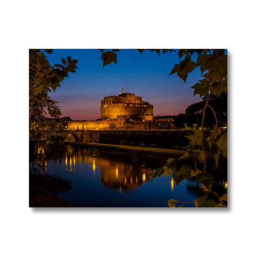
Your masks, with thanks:
<instances>
[{"instance_id":1,"label":"round upper drum of the lit castle, above the low wall","mask_svg":"<svg viewBox=\"0 0 256 256\"><path fill-rule=\"evenodd\" d=\"M126 116L127 119L153 121L153 105L142 101L134 93L122 93L119 96L108 96L101 100L101 119L117 119Z\"/></svg>"}]
</instances>

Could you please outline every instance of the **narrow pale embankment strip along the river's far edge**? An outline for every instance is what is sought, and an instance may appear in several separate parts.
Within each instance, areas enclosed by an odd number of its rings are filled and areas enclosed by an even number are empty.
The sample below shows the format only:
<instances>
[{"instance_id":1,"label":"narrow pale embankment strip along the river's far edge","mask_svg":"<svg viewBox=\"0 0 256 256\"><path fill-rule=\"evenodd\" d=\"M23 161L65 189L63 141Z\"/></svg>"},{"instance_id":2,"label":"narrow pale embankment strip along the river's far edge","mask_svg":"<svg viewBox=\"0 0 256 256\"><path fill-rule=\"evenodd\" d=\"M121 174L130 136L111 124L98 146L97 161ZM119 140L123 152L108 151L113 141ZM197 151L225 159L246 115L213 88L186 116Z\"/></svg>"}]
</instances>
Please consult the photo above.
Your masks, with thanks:
<instances>
[{"instance_id":1,"label":"narrow pale embankment strip along the river's far edge","mask_svg":"<svg viewBox=\"0 0 256 256\"><path fill-rule=\"evenodd\" d=\"M182 156L185 150L182 149L171 149L171 148L157 148L147 146L125 146L125 145L113 145L113 144L101 144L101 143L83 143L76 142L72 143L73 147L86 147L86 148L103 148L108 150L122 150L127 152L135 152L150 155L160 156Z\"/></svg>"}]
</instances>

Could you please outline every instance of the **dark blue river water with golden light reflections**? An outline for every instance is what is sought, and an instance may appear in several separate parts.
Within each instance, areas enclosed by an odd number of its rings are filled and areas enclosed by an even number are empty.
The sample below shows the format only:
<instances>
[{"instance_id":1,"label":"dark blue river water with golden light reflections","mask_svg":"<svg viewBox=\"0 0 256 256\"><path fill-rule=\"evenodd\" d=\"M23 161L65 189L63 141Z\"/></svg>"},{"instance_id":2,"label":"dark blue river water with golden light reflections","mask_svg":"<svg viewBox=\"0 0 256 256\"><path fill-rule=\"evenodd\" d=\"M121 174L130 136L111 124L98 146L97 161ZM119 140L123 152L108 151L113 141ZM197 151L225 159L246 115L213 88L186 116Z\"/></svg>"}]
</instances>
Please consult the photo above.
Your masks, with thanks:
<instances>
[{"instance_id":1,"label":"dark blue river water with golden light reflections","mask_svg":"<svg viewBox=\"0 0 256 256\"><path fill-rule=\"evenodd\" d=\"M184 180L177 186L163 175L148 180L168 157L72 146L50 147L45 153L47 172L72 183L70 190L55 195L79 207L168 207L170 199L200 197L195 182Z\"/></svg>"}]
</instances>

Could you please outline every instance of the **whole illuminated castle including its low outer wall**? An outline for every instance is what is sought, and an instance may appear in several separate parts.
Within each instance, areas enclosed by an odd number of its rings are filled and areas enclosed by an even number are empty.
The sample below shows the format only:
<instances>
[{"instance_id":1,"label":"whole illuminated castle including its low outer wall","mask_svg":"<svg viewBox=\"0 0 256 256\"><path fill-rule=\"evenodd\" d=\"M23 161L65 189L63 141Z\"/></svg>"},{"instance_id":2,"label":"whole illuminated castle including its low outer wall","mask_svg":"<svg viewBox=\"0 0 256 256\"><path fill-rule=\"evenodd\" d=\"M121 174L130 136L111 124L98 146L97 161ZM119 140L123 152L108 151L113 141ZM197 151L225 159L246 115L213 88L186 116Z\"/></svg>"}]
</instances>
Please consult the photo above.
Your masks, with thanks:
<instances>
[{"instance_id":1,"label":"whole illuminated castle including its low outer wall","mask_svg":"<svg viewBox=\"0 0 256 256\"><path fill-rule=\"evenodd\" d=\"M169 121L154 121L153 105L134 93L101 100L100 119L68 122L69 130L169 130Z\"/></svg>"}]
</instances>

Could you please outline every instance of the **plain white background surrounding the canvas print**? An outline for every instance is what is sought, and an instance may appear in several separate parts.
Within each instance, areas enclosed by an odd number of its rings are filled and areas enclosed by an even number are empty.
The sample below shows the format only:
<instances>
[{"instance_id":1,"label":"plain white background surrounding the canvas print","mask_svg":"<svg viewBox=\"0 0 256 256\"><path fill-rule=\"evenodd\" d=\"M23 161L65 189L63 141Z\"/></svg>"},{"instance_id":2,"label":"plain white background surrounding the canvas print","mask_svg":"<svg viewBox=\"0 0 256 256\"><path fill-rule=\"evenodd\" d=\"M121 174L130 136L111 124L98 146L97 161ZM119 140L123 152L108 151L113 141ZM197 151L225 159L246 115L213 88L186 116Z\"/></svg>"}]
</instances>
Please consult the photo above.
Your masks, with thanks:
<instances>
[{"instance_id":1,"label":"plain white background surrounding the canvas print","mask_svg":"<svg viewBox=\"0 0 256 256\"><path fill-rule=\"evenodd\" d=\"M252 255L253 1L1 3L1 255ZM28 207L28 49L228 49L228 209Z\"/></svg>"}]
</instances>

